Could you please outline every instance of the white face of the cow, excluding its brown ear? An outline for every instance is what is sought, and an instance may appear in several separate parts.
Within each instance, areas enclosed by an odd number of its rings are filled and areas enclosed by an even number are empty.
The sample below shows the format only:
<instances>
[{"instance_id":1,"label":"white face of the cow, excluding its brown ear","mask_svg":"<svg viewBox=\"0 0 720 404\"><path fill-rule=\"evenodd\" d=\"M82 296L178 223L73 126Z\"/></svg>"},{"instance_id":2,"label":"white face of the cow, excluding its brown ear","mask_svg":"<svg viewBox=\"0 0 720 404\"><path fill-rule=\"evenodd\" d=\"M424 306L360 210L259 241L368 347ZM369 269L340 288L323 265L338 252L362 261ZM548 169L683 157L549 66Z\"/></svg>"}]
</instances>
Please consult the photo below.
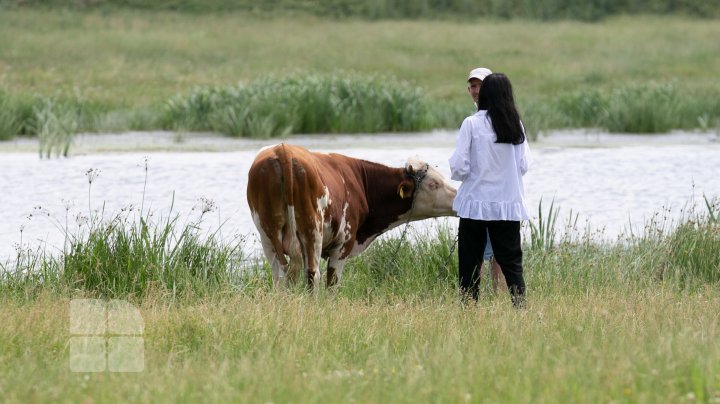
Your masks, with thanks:
<instances>
[{"instance_id":1,"label":"white face of the cow, excluding its brown ear","mask_svg":"<svg viewBox=\"0 0 720 404\"><path fill-rule=\"evenodd\" d=\"M411 219L455 216L452 203L457 190L439 171L418 158L409 158L405 169L422 177L420 188L415 190Z\"/></svg>"}]
</instances>

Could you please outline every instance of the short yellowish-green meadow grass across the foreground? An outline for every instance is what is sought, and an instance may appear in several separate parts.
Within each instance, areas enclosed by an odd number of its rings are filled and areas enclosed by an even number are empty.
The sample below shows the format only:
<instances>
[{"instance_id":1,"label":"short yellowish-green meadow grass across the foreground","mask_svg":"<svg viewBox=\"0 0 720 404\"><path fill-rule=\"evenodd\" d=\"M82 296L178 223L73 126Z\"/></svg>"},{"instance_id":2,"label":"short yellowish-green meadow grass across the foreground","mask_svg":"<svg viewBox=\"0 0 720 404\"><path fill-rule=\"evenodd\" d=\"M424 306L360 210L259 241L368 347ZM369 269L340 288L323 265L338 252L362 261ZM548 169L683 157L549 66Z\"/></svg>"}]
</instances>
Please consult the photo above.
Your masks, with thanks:
<instances>
[{"instance_id":1,"label":"short yellowish-green meadow grass across the foreground","mask_svg":"<svg viewBox=\"0 0 720 404\"><path fill-rule=\"evenodd\" d=\"M700 401L720 397L715 288L590 290L463 309L233 294L149 296L141 373L68 371L69 299L4 300L0 388L20 401Z\"/></svg>"}]
</instances>

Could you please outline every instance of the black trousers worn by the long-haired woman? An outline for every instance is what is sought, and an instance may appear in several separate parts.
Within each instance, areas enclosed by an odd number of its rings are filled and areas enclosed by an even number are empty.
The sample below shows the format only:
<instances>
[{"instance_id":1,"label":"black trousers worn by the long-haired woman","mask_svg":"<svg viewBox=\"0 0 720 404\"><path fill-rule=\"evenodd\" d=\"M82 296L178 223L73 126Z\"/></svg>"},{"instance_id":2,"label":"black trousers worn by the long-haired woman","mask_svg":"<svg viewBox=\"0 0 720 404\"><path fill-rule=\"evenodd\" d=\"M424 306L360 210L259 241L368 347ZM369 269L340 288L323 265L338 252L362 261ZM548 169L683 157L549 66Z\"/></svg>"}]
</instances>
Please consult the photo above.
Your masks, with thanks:
<instances>
[{"instance_id":1,"label":"black trousers worn by the long-haired woman","mask_svg":"<svg viewBox=\"0 0 720 404\"><path fill-rule=\"evenodd\" d=\"M458 228L458 263L460 291L464 297L477 300L480 288L480 265L487 236L493 255L505 275L513 304L521 305L525 296L522 274L520 222L509 220L474 220L460 218Z\"/></svg>"}]
</instances>

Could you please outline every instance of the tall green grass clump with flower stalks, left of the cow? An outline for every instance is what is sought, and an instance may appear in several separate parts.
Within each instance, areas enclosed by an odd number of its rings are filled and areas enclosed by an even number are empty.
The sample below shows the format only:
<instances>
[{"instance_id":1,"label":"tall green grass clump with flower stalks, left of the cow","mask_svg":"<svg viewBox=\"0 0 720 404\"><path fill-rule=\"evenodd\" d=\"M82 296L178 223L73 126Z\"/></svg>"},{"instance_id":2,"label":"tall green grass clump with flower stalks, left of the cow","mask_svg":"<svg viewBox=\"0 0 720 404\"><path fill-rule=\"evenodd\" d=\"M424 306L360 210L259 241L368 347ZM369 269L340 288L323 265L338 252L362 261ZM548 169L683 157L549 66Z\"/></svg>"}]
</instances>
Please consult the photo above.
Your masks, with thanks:
<instances>
[{"instance_id":1,"label":"tall green grass clump with flower stalks, left of the cow","mask_svg":"<svg viewBox=\"0 0 720 404\"><path fill-rule=\"evenodd\" d=\"M21 239L15 259L0 262L0 291L25 298L41 289L106 298L133 299L153 292L176 298L238 290L262 279L246 268L244 237L228 244L220 239L220 228L202 232L205 215L215 209L213 201L201 200L198 217L183 219L171 205L166 216L157 218L143 210L144 188L139 211L131 207L106 218L104 206L92 208L98 175L95 169L86 172L88 212L78 214L78 227L69 228L67 217L65 223L55 223L64 235L62 250L53 254ZM145 181L147 185L147 162Z\"/></svg>"}]
</instances>

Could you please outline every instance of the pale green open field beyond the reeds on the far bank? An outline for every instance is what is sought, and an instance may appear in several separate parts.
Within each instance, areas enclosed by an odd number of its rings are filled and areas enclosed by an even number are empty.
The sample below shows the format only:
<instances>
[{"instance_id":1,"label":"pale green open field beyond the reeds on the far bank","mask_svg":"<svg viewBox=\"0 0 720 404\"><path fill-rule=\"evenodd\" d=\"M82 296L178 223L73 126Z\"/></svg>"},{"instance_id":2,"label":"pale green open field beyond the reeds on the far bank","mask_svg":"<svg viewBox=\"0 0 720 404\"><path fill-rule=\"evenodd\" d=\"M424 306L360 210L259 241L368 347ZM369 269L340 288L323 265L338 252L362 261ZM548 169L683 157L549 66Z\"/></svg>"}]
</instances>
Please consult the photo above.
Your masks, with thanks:
<instances>
[{"instance_id":1,"label":"pale green open field beyond the reeds on the far bank","mask_svg":"<svg viewBox=\"0 0 720 404\"><path fill-rule=\"evenodd\" d=\"M11 10L0 22L12 38L0 48L7 91L77 90L138 105L296 72L385 74L464 100L464 78L477 65L506 72L521 99L647 81L717 89L720 70L716 21L680 17L367 22Z\"/></svg>"}]
</instances>

